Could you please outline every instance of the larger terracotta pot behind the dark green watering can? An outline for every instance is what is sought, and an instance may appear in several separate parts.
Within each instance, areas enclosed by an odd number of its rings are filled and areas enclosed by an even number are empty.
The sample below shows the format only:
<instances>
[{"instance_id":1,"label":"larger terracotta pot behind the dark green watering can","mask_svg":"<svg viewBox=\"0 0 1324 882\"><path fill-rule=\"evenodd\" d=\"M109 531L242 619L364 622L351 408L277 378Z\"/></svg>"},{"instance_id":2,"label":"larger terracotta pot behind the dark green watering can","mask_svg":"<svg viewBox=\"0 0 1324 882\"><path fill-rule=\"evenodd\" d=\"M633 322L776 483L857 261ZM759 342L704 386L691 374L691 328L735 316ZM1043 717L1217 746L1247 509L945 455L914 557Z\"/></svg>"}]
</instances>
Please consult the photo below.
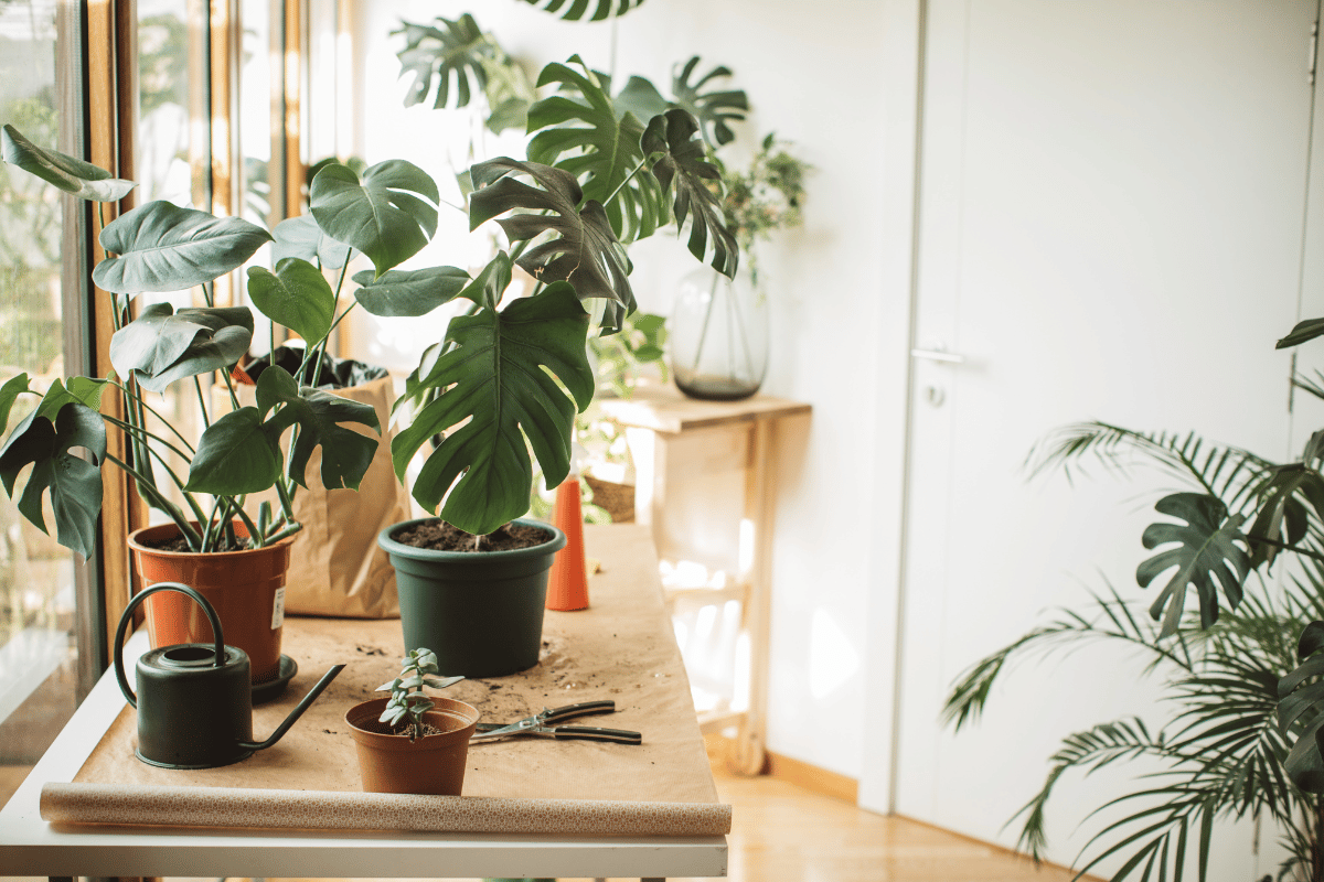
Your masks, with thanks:
<instances>
[{"instance_id":1,"label":"larger terracotta pot behind the dark green watering can","mask_svg":"<svg viewBox=\"0 0 1324 882\"><path fill-rule=\"evenodd\" d=\"M234 532L248 536L240 522L234 524ZM179 528L173 524L128 534L128 547L134 550L144 587L158 582L183 582L196 588L216 608L226 645L248 653L253 682L274 680L281 670L285 574L295 537L246 551L195 554L151 547L177 536ZM144 606L154 649L180 643L211 643L212 627L207 616L183 594L156 594Z\"/></svg>"}]
</instances>

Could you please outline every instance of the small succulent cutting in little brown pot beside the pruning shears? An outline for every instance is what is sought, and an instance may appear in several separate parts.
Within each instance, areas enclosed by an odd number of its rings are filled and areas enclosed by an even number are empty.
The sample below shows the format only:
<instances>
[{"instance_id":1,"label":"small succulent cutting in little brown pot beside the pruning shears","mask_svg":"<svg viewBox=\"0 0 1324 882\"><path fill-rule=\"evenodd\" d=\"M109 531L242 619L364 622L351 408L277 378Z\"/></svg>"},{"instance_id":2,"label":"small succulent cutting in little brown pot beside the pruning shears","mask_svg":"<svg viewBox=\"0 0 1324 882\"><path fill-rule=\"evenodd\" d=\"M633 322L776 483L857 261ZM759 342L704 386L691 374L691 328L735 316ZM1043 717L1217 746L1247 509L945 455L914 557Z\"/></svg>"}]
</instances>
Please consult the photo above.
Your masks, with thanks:
<instances>
[{"instance_id":1,"label":"small succulent cutting in little brown pot beside the pruning shears","mask_svg":"<svg viewBox=\"0 0 1324 882\"><path fill-rule=\"evenodd\" d=\"M400 676L377 688L389 698L355 705L344 715L363 789L459 796L478 711L462 701L429 698L424 686L445 689L463 677L441 677L428 649L410 649L401 664Z\"/></svg>"}]
</instances>

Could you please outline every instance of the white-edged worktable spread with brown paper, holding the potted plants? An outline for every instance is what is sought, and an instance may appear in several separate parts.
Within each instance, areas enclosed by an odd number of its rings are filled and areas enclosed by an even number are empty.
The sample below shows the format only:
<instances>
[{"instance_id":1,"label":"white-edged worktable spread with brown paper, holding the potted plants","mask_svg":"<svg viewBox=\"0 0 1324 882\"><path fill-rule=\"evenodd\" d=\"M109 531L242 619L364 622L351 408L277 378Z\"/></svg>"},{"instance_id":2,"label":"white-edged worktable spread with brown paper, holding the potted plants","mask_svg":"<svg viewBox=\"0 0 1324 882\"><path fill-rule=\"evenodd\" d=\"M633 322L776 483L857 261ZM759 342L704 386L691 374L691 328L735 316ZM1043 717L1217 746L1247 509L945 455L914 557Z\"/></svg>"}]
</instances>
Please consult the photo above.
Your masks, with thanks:
<instances>
[{"instance_id":1,"label":"white-edged worktable spread with brown paper, holding the potted plants","mask_svg":"<svg viewBox=\"0 0 1324 882\"><path fill-rule=\"evenodd\" d=\"M493 696L493 701L486 703L499 709L494 714L534 702L540 705L547 701L555 706L598 698L601 696L594 694L593 689L604 686L587 682L591 677L585 672L591 673L592 668L589 660L572 660L573 653L567 647L577 633L584 640L585 623L600 623L604 618L610 620L613 610L626 608L638 619L642 607L645 612L651 611L646 618L655 620L657 631L669 635L670 624L663 615L657 559L647 530L634 525L591 528L585 530L585 541L589 553L602 561L602 573L589 583L593 604L589 612L596 610L597 619L588 618L588 614L549 611L544 624L544 643L552 647L553 653L559 652L559 657L549 660L544 651L544 661L531 672L506 678L465 681L453 689L465 688L470 690L469 694L454 697L477 705L475 696ZM302 629L301 623L306 623ZM98 783L115 783L115 775L127 775L144 782L144 785L167 780L176 787L271 787L270 776L278 774L279 780L290 782L286 789L314 789L308 787L312 780L327 783L315 789L344 789L346 762L338 751L346 750L348 739L336 731L343 729L343 723L336 721L348 706L346 702L352 703L348 693L371 690L377 682L368 686L361 684L373 678L383 681L393 673L377 676L377 668L396 664L399 659L392 656L402 653L399 621L290 619L286 628L287 649L303 652L312 661L301 665L299 674L285 697L273 702L273 706L256 709L256 734L270 731L273 721L283 718L287 706L297 702L320 676L322 660L315 656L316 645L343 647L342 652L350 657L351 664L281 743L236 766L205 772L172 772L142 766L131 759L127 742L122 743L122 730L126 723L132 722L132 711L126 710L111 672L102 677L52 748L0 811L0 875L662 878L726 874L724 836L316 832L53 825L41 820L38 800L46 782L85 780L89 775ZM347 639L347 633L354 637ZM393 635L389 637L393 640L389 655L379 648L388 639L385 635ZM625 633L622 628L620 636L629 641L633 635ZM130 640L126 660L143 652L146 645L146 635L135 635ZM561 647L560 651L556 647ZM367 652L356 657L356 649ZM708 793L715 800L711 775L702 756L698 723L688 705L685 669L674 640L670 643L670 656L658 659L661 661L646 678L632 677L632 681L638 681L637 686L632 682L633 694L626 696L624 690L616 694L618 713L608 723L643 731L642 747L542 739L536 743L499 742L475 746L470 750L466 795L547 797L547 779L551 779L560 782L555 795L561 799L614 799L617 796L613 792L617 791L639 792L632 791L628 784L645 780L649 770L663 760L663 754L675 754L681 758L677 768L685 770L687 776L686 780L675 782L675 792L688 795L679 796L679 801L703 801L708 799ZM597 659L594 664L598 665L600 680L610 681L610 670L628 668L628 664L622 664L626 661ZM567 676L567 672L573 674L573 681L561 682L559 677ZM560 692L553 698L547 698L553 684L557 684L555 688ZM342 694L336 696L334 690ZM658 738L650 739L650 733ZM614 751L593 752L604 748ZM568 768L560 770L559 779L556 775L547 775L543 780L528 780L531 776L526 771L527 763L531 762L530 758L538 756L543 759L536 762L544 766L552 763ZM588 756L596 758L593 767L581 768L576 775L575 758L581 758L583 762ZM356 776L352 760L348 764L348 775ZM319 768L320 772L316 771ZM314 774L320 774L322 779L308 778ZM106 775L110 775L109 780ZM299 775L305 778L301 779ZM576 782L576 778L583 780ZM252 783L246 783L249 780ZM526 782L527 787L523 785ZM510 792L511 789L519 792Z\"/></svg>"}]
</instances>

